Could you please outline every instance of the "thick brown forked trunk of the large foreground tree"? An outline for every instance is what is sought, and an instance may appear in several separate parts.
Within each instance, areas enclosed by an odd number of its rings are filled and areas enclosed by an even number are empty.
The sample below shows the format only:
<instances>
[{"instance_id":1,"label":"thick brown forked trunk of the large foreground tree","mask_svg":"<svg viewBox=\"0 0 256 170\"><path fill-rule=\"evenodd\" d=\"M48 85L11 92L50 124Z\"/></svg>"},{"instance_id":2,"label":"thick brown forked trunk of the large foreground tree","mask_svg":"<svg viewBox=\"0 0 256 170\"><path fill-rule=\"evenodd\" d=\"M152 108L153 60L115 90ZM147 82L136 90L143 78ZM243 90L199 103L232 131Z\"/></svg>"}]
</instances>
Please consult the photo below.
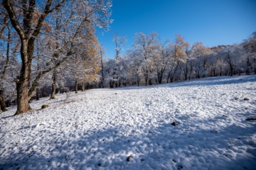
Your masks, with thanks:
<instances>
[{"instance_id":1,"label":"thick brown forked trunk of the large foreground tree","mask_svg":"<svg viewBox=\"0 0 256 170\"><path fill-rule=\"evenodd\" d=\"M48 0L44 5L43 3L38 3L36 0L31 1L11 1L3 0L2 4L5 8L4 13L8 13L9 19L12 26L18 33L21 40L21 61L22 68L21 72L16 79L16 89L17 89L17 111L18 113L23 113L28 111L30 108L28 105L28 88L30 86L31 79L31 64L33 60L34 43L41 28L43 26L43 21L45 21L46 16L52 13L57 8L60 8L60 3L53 5L52 1ZM40 9L40 7L43 7ZM41 13L36 22L33 20L38 16L38 12Z\"/></svg>"}]
</instances>

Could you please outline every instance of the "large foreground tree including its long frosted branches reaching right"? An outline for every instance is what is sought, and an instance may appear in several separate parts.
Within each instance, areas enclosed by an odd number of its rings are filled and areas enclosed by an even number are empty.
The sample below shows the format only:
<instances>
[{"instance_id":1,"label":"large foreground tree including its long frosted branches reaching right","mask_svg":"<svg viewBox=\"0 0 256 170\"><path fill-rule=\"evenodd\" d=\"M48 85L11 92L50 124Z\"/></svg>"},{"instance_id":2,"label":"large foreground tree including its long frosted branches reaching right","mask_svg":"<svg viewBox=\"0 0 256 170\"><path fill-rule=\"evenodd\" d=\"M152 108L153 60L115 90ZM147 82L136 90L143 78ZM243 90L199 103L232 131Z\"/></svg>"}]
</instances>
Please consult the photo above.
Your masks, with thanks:
<instances>
[{"instance_id":1,"label":"large foreground tree including its long frosted branches reaching right","mask_svg":"<svg viewBox=\"0 0 256 170\"><path fill-rule=\"evenodd\" d=\"M33 91L38 85L38 79L43 74L50 72L58 67L66 57L73 54L74 43L80 33L80 28L86 23L92 23L92 26L99 26L100 28L107 28L108 24L112 22L110 19L112 1L92 1L92 0L78 0L78 1L36 1L36 0L3 0L3 13L7 13L11 21L11 25L16 30L19 39L21 40L21 71L16 79L17 89L17 111L24 113L29 110L28 101L33 95ZM61 43L58 48L53 47L46 56L51 59L48 60L48 69L42 70L34 79L31 86L31 66L33 64L35 42L41 36L56 35L55 30L55 12L59 11L63 20L60 23L63 25L63 30L60 31ZM68 23L65 25L65 23ZM44 26L49 26L52 30L46 29ZM56 31L59 31L56 29ZM52 38L54 40L54 38ZM53 56L63 57L53 57ZM56 60L57 59L57 60ZM28 91L31 86L31 90Z\"/></svg>"}]
</instances>

